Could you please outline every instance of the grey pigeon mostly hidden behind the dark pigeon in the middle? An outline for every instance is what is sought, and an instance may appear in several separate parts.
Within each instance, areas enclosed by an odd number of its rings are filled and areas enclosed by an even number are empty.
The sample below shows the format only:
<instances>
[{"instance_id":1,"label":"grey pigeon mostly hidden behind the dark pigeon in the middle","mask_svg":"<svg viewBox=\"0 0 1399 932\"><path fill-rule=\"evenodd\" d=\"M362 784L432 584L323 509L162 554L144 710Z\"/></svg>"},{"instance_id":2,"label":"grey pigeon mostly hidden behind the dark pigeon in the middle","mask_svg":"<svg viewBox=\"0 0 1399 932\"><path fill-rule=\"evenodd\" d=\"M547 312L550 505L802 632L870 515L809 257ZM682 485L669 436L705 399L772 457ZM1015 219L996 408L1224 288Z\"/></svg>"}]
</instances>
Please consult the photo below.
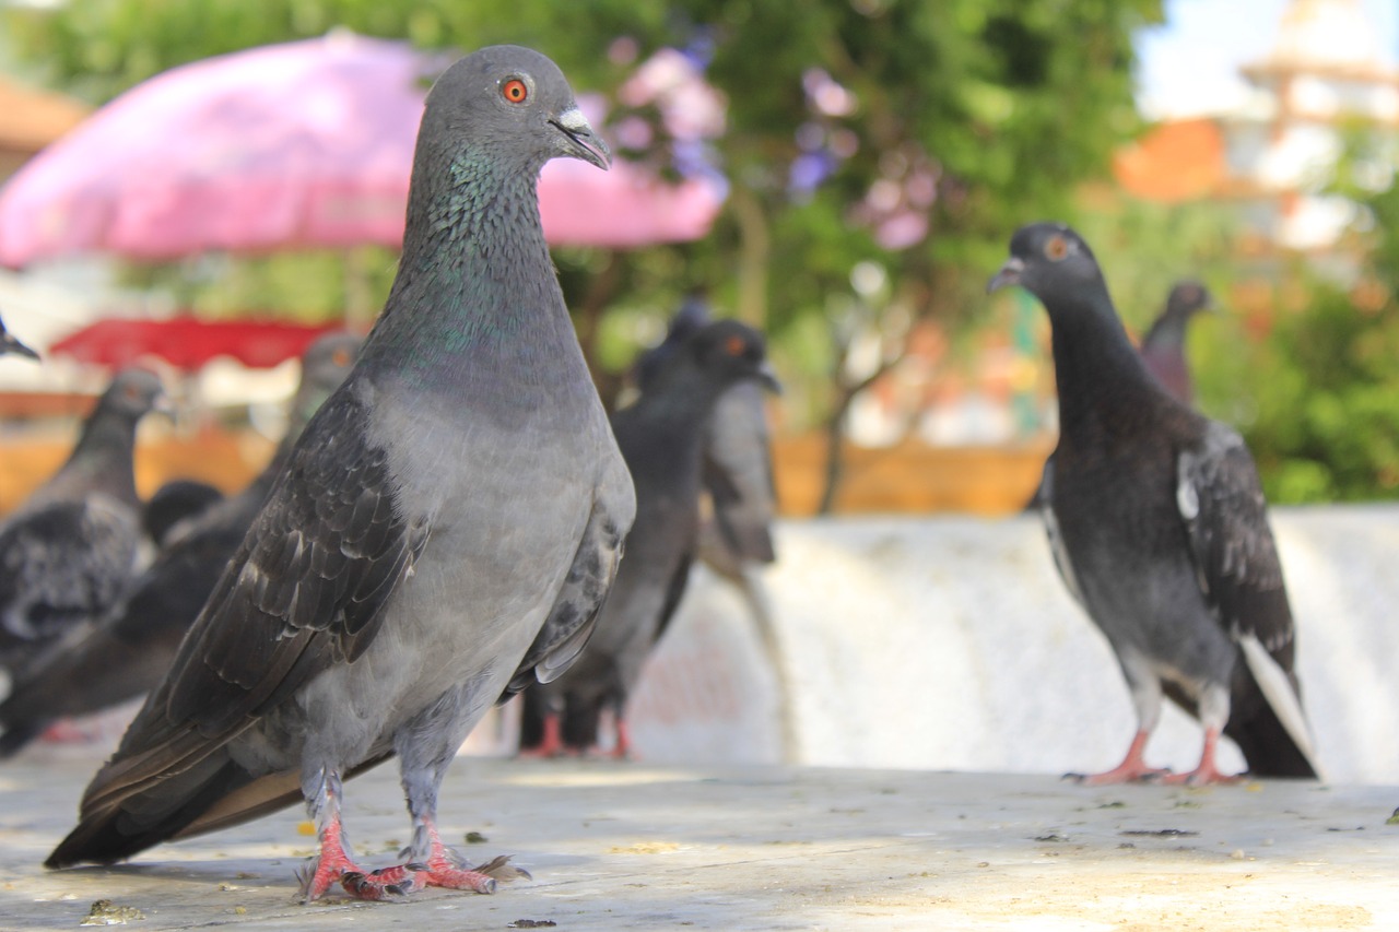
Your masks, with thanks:
<instances>
[{"instance_id":1,"label":"grey pigeon mostly hidden behind the dark pigeon in the middle","mask_svg":"<svg viewBox=\"0 0 1399 932\"><path fill-rule=\"evenodd\" d=\"M646 392L670 358L700 327L709 309L700 298L687 298L660 344L637 361L637 386ZM704 428L704 488L709 519L700 528L700 558L720 577L747 591L744 570L776 560L772 521L776 486L772 479L772 444L765 386L744 379L729 386L716 402Z\"/></svg>"}]
</instances>

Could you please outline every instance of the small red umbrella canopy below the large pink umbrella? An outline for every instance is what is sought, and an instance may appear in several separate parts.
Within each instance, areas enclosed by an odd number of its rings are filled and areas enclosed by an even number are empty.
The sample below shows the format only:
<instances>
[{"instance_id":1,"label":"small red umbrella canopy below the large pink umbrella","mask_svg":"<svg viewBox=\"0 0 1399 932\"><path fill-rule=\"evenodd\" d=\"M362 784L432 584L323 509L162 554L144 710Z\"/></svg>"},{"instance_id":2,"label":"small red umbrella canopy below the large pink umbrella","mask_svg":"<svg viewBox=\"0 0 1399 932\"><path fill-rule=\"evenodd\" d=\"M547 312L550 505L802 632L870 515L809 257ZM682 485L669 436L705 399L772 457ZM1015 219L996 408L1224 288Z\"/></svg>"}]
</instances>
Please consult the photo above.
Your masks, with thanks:
<instances>
[{"instance_id":1,"label":"small red umbrella canopy below the large pink umbrella","mask_svg":"<svg viewBox=\"0 0 1399 932\"><path fill-rule=\"evenodd\" d=\"M249 368L270 369L298 358L327 327L276 320L166 320L108 318L74 330L49 347L50 355L119 368L158 355L186 372L228 355Z\"/></svg>"}]
</instances>

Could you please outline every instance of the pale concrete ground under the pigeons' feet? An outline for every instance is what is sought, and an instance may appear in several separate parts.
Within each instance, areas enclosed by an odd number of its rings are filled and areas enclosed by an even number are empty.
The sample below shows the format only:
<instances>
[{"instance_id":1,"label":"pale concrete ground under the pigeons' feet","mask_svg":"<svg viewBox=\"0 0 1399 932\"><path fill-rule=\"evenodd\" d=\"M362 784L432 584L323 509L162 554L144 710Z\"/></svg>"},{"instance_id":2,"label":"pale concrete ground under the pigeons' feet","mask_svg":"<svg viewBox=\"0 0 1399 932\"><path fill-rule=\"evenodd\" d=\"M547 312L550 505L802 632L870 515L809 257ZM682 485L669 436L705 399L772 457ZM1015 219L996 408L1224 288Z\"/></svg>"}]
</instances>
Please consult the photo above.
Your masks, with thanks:
<instances>
[{"instance_id":1,"label":"pale concrete ground under the pigeons' feet","mask_svg":"<svg viewBox=\"0 0 1399 932\"><path fill-rule=\"evenodd\" d=\"M41 868L95 764L41 747L0 768L0 928L77 928L97 900L136 929L1399 928L1396 786L463 757L443 834L484 835L469 858L513 854L532 882L301 905L295 810L133 865ZM392 765L348 784L367 866L407 837L400 799Z\"/></svg>"}]
</instances>

